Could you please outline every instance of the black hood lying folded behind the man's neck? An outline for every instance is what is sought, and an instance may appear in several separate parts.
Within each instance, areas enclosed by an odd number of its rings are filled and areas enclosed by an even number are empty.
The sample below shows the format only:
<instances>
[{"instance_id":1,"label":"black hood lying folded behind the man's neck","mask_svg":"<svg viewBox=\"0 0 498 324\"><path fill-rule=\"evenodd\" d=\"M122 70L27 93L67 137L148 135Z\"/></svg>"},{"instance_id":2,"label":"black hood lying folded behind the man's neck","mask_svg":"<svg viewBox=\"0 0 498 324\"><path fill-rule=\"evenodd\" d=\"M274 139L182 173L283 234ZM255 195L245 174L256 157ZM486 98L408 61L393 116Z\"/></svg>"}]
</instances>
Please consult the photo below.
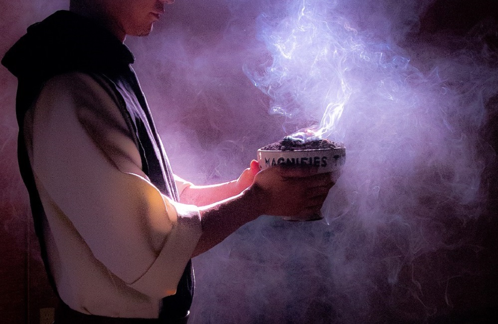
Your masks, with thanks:
<instances>
[{"instance_id":1,"label":"black hood lying folded behind the man's neck","mask_svg":"<svg viewBox=\"0 0 498 324\"><path fill-rule=\"evenodd\" d=\"M2 64L19 81L43 82L71 71L111 72L134 57L107 29L70 11L57 11L28 27Z\"/></svg>"}]
</instances>

